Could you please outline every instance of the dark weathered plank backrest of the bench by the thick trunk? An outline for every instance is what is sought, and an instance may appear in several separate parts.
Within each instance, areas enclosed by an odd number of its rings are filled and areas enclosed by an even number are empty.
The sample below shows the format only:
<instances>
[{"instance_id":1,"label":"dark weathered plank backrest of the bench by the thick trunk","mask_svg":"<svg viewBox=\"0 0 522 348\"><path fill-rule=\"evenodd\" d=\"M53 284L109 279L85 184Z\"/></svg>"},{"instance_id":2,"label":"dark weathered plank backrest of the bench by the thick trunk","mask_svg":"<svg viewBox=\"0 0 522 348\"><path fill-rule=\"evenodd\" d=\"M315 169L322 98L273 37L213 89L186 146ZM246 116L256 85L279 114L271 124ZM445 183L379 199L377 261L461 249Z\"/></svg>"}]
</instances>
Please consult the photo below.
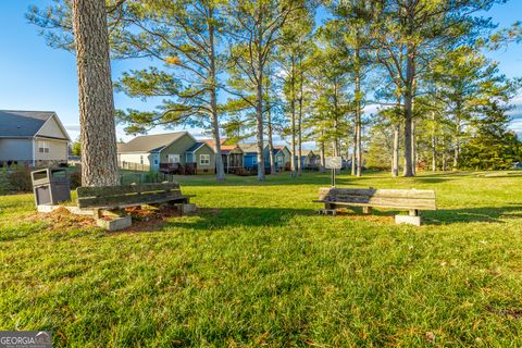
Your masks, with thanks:
<instances>
[{"instance_id":1,"label":"dark weathered plank backrest of the bench by the thick trunk","mask_svg":"<svg viewBox=\"0 0 522 348\"><path fill-rule=\"evenodd\" d=\"M177 183L78 187L76 192L79 208L147 204L182 196Z\"/></svg>"}]
</instances>

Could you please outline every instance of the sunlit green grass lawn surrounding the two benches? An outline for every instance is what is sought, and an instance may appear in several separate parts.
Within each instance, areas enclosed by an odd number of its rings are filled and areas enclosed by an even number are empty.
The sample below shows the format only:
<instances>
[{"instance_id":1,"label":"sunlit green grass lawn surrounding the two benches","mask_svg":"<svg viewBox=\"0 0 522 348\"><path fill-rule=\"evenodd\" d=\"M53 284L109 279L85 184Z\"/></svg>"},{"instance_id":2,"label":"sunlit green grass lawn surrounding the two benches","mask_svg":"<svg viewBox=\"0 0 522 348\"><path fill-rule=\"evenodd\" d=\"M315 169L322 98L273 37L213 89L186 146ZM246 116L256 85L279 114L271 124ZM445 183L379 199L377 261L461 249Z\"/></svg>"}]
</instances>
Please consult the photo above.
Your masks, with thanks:
<instances>
[{"instance_id":1,"label":"sunlit green grass lawn surrounding the two benches","mask_svg":"<svg viewBox=\"0 0 522 348\"><path fill-rule=\"evenodd\" d=\"M158 231L51 225L0 197L0 330L57 347L522 346L522 172L338 186L434 189L394 212L319 216L327 174L181 178L201 212Z\"/></svg>"}]
</instances>

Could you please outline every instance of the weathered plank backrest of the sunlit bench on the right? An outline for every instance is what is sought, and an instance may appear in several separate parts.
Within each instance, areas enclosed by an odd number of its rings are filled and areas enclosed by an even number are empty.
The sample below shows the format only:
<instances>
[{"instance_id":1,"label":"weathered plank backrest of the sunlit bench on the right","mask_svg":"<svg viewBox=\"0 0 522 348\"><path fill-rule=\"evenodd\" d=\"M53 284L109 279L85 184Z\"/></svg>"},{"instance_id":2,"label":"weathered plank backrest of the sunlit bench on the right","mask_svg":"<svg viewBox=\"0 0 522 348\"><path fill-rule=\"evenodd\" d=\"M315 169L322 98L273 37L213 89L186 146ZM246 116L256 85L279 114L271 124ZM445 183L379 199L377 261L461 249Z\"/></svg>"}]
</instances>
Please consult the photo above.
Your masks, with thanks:
<instances>
[{"instance_id":1,"label":"weathered plank backrest of the sunlit bench on the right","mask_svg":"<svg viewBox=\"0 0 522 348\"><path fill-rule=\"evenodd\" d=\"M319 199L326 202L351 203L405 210L436 210L435 191L421 189L330 188L319 189Z\"/></svg>"}]
</instances>

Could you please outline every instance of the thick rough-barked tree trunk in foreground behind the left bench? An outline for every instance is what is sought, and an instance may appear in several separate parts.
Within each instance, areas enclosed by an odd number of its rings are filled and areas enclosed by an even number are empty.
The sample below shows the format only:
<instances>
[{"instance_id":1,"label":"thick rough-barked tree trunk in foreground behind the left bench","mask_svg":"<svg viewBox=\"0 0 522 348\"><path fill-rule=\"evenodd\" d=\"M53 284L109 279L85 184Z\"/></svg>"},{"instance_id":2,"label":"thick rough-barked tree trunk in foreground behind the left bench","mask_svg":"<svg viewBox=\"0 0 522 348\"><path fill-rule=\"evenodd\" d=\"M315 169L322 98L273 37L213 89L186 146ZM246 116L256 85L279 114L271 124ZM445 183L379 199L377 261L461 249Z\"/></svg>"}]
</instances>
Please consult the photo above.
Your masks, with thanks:
<instances>
[{"instance_id":1,"label":"thick rough-barked tree trunk in foreground behind the left bench","mask_svg":"<svg viewBox=\"0 0 522 348\"><path fill-rule=\"evenodd\" d=\"M114 99L104 0L73 0L82 185L119 185Z\"/></svg>"}]
</instances>

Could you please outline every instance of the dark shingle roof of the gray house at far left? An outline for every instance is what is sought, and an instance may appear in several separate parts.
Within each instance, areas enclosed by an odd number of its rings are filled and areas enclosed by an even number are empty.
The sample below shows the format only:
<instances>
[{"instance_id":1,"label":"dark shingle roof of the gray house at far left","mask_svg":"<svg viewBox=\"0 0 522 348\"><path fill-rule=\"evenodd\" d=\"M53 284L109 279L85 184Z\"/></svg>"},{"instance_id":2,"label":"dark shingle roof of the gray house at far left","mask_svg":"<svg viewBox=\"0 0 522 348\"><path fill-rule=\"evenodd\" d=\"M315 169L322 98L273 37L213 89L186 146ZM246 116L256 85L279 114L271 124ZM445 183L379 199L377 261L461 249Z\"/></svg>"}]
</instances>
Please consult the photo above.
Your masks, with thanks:
<instances>
[{"instance_id":1,"label":"dark shingle roof of the gray house at far left","mask_svg":"<svg viewBox=\"0 0 522 348\"><path fill-rule=\"evenodd\" d=\"M0 137L34 137L52 111L0 110Z\"/></svg>"}]
</instances>

